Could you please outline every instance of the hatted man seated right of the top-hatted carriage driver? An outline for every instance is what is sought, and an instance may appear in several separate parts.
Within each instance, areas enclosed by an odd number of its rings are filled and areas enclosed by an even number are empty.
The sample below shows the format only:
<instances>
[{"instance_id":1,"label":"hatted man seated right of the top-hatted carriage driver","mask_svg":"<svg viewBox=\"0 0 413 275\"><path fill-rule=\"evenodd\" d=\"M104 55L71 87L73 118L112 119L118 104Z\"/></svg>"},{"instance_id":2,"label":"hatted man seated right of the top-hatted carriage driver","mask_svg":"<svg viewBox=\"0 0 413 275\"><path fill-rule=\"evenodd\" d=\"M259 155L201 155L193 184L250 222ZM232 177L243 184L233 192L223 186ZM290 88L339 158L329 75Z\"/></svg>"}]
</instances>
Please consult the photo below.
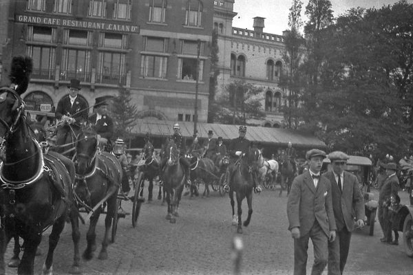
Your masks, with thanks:
<instances>
[{"instance_id":1,"label":"hatted man seated right of the top-hatted carriage driver","mask_svg":"<svg viewBox=\"0 0 413 275\"><path fill-rule=\"evenodd\" d=\"M114 135L114 122L107 115L107 100L105 98L96 98L94 106L96 113L89 116L89 122L95 125L99 143L105 145L107 151L110 151L111 139Z\"/></svg>"}]
</instances>

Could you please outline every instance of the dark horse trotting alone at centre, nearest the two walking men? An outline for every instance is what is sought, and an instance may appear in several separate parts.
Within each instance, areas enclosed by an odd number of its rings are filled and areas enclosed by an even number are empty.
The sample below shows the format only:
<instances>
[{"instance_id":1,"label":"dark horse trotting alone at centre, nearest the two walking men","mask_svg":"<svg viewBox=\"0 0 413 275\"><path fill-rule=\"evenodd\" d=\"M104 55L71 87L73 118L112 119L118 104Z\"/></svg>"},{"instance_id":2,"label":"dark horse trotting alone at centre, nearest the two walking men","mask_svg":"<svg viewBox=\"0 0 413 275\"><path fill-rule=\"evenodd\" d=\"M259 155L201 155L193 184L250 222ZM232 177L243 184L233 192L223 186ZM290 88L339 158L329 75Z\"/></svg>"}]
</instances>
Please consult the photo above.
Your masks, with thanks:
<instances>
[{"instance_id":1,"label":"dark horse trotting alone at centre, nearest the two walking men","mask_svg":"<svg viewBox=\"0 0 413 275\"><path fill-rule=\"evenodd\" d=\"M260 150L250 148L245 155L241 155L240 159L235 163L235 168L231 174L231 184L229 189L229 198L231 200L231 208L233 214L233 225L237 225L237 233L242 234L242 200L246 198L248 204L248 217L244 221L244 226L248 226L253 214L253 185L254 173L258 170L258 161L260 158ZM234 193L237 198L237 216L234 210Z\"/></svg>"}]
</instances>

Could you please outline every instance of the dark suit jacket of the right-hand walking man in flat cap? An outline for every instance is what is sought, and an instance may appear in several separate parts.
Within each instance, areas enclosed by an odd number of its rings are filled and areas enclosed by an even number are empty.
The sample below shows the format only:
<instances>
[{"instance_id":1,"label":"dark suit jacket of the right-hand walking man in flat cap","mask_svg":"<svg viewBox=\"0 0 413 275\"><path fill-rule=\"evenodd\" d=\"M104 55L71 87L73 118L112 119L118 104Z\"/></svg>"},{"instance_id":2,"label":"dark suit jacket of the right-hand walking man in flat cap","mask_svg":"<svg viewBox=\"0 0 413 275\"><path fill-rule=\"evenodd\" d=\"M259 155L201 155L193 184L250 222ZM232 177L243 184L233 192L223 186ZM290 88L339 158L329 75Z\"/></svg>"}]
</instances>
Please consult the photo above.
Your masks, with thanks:
<instances>
[{"instance_id":1,"label":"dark suit jacket of the right-hand walking man in flat cap","mask_svg":"<svg viewBox=\"0 0 413 275\"><path fill-rule=\"evenodd\" d=\"M354 230L354 214L356 219L364 219L364 200L361 195L359 181L352 173L344 171L343 190L339 189L332 171L324 174L331 183L332 208L334 210L337 230L344 227L348 232ZM353 214L354 213L354 214Z\"/></svg>"}]
</instances>

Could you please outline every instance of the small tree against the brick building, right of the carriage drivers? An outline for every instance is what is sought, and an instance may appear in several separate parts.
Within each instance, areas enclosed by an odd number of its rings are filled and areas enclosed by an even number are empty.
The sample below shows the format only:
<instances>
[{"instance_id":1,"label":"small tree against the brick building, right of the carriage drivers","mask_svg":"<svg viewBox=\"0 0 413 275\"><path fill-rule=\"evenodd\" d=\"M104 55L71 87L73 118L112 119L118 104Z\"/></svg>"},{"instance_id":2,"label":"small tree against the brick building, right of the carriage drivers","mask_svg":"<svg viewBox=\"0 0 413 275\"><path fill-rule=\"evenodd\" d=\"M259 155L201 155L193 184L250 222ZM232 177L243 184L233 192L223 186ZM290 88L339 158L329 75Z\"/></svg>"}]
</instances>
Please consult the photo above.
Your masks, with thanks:
<instances>
[{"instance_id":1,"label":"small tree against the brick building, right of the carriage drivers","mask_svg":"<svg viewBox=\"0 0 413 275\"><path fill-rule=\"evenodd\" d=\"M131 104L131 92L124 87L119 87L119 94L113 99L112 115L115 123L117 137L131 139L132 129L138 120L136 105Z\"/></svg>"}]
</instances>

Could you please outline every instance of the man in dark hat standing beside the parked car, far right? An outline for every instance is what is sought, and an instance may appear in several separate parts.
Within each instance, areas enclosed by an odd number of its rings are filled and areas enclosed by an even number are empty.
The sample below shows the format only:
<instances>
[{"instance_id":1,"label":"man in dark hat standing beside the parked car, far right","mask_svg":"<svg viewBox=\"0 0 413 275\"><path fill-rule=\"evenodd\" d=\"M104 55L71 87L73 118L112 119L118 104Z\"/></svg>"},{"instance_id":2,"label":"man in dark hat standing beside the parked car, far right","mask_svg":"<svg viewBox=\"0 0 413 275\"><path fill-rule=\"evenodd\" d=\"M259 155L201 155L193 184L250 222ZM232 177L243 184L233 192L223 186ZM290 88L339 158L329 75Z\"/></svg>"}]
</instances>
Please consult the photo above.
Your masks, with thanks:
<instances>
[{"instance_id":1,"label":"man in dark hat standing beside the parked car, far right","mask_svg":"<svg viewBox=\"0 0 413 275\"><path fill-rule=\"evenodd\" d=\"M383 168L385 168L385 174L387 178L385 179L383 186L381 186L379 191L379 206L378 206L378 217L379 223L381 226L381 230L383 230L383 238L380 239L383 243L391 243L392 242L392 230L391 230L391 223L389 219L388 213L388 205L387 202L390 201L390 197L394 195L394 197L399 192L399 179L397 178L396 171L397 165L394 162L389 162L388 164L383 164Z\"/></svg>"}]
</instances>

